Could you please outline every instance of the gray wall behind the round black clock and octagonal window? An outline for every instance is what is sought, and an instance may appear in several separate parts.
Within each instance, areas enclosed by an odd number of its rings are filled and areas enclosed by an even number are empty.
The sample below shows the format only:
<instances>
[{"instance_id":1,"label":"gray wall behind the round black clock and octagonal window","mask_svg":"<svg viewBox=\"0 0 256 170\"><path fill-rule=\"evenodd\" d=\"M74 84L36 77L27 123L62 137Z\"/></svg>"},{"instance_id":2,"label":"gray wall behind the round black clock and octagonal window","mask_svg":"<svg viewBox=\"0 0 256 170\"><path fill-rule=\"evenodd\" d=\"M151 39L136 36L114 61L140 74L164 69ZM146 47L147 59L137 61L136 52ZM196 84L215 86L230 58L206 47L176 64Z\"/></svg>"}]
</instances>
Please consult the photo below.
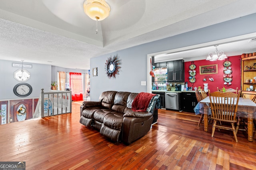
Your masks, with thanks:
<instances>
[{"instance_id":1,"label":"gray wall behind the round black clock and octagonal window","mask_svg":"<svg viewBox=\"0 0 256 170\"><path fill-rule=\"evenodd\" d=\"M14 71L21 69L20 67L13 67L12 63L20 63L16 61L0 60L0 100L2 99L18 99L13 92L16 84L21 83L14 79ZM30 79L26 83L32 86L32 93L26 98L38 98L41 93L41 88L48 92L51 84L51 66L45 64L32 64L32 68L24 68L30 72Z\"/></svg>"}]
</instances>

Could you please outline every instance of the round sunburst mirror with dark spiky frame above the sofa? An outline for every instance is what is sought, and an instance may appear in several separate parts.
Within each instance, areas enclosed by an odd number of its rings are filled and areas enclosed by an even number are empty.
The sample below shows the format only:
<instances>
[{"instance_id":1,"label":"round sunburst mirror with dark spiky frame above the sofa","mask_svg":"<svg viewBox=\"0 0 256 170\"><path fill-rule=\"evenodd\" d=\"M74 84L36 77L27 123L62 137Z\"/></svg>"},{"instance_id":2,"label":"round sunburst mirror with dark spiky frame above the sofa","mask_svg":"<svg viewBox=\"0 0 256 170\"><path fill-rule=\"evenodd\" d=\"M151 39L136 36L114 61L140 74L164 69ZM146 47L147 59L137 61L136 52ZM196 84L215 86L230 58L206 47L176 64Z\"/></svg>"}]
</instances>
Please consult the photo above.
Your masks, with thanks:
<instances>
[{"instance_id":1,"label":"round sunburst mirror with dark spiky frame above the sofa","mask_svg":"<svg viewBox=\"0 0 256 170\"><path fill-rule=\"evenodd\" d=\"M106 60L105 70L108 78L116 78L116 74L118 74L119 69L121 68L119 64L121 64L121 62L118 60L117 56L114 56L113 59L110 57Z\"/></svg>"}]
</instances>

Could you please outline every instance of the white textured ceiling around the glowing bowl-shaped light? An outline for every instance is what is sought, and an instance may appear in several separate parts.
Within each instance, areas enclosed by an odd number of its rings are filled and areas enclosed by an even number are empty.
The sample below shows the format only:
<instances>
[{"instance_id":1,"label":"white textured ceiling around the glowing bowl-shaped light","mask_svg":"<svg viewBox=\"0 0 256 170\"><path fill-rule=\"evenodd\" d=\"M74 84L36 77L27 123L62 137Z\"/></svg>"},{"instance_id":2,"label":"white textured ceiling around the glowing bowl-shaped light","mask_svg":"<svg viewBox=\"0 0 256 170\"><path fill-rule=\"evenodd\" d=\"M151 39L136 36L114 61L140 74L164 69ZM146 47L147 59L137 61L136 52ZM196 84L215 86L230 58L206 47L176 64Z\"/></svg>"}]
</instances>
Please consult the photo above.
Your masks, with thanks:
<instances>
[{"instance_id":1,"label":"white textured ceiling around the glowing bowl-shaped light","mask_svg":"<svg viewBox=\"0 0 256 170\"><path fill-rule=\"evenodd\" d=\"M92 57L256 12L255 0L106 0L96 34L83 2L0 0L0 59L90 69Z\"/></svg>"}]
</instances>

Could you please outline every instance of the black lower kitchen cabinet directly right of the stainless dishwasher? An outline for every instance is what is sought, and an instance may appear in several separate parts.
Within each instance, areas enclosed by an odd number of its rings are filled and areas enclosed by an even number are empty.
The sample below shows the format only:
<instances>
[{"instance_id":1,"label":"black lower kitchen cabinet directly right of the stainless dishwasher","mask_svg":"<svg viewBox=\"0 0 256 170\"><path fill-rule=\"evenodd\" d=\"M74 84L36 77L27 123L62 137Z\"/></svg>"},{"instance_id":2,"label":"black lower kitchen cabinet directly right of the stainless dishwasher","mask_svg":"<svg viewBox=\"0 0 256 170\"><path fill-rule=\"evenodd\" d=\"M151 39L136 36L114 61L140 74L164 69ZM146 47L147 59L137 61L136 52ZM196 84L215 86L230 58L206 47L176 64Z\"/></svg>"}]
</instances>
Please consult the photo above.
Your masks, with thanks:
<instances>
[{"instance_id":1,"label":"black lower kitchen cabinet directly right of the stainless dishwasher","mask_svg":"<svg viewBox=\"0 0 256 170\"><path fill-rule=\"evenodd\" d=\"M198 104L196 99L196 93L194 92L182 92L182 110L193 112L194 113L194 107Z\"/></svg>"}]
</instances>

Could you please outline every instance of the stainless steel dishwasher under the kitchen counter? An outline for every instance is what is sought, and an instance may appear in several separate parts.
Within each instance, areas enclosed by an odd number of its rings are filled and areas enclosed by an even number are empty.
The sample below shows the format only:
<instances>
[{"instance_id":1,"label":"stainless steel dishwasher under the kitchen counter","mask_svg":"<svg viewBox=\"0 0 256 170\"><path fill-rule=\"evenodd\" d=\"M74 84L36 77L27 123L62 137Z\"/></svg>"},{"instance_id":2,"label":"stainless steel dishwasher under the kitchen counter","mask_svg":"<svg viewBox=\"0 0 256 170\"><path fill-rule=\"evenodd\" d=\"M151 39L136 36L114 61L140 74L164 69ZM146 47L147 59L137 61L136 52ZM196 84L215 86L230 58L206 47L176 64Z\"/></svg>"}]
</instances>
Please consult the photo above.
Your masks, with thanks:
<instances>
[{"instance_id":1,"label":"stainless steel dishwasher under the kitchen counter","mask_svg":"<svg viewBox=\"0 0 256 170\"><path fill-rule=\"evenodd\" d=\"M165 92L165 108L179 110L179 95L178 92Z\"/></svg>"}]
</instances>

